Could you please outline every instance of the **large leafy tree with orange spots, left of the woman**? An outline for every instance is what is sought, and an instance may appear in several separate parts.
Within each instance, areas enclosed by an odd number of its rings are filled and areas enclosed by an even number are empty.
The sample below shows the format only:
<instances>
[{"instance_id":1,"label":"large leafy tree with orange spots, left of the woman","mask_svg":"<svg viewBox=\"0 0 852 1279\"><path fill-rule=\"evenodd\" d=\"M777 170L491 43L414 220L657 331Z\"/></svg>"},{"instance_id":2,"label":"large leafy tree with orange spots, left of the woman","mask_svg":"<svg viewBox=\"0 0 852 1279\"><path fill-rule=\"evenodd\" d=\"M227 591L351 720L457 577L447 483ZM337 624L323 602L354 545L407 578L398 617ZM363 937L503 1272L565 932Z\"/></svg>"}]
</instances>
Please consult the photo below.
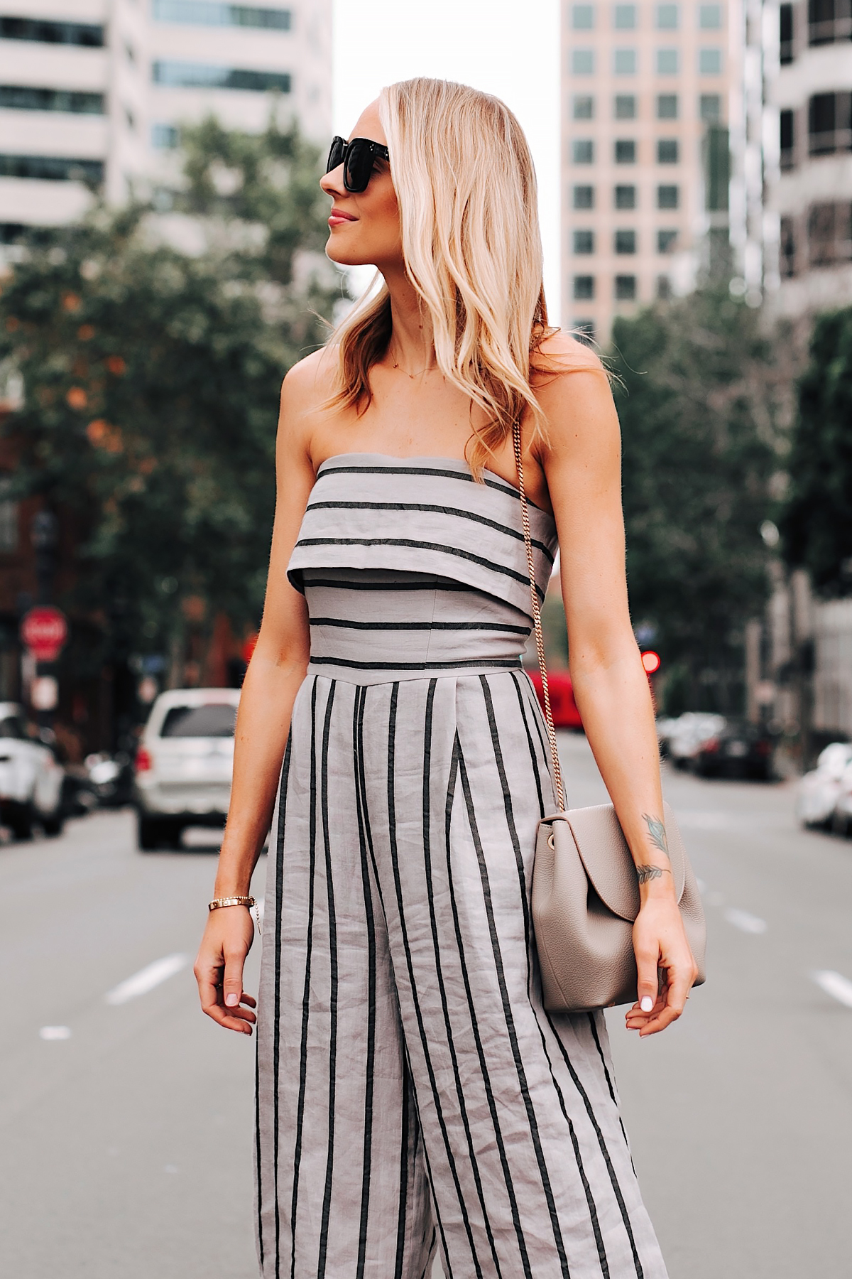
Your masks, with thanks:
<instances>
[{"instance_id":1,"label":"large leafy tree with orange spots, left of the woman","mask_svg":"<svg viewBox=\"0 0 852 1279\"><path fill-rule=\"evenodd\" d=\"M204 122L169 216L161 192L98 207L3 281L15 482L74 526L61 602L97 622L95 664L180 647L188 619L259 618L281 379L340 297L318 160L295 128Z\"/></svg>"}]
</instances>

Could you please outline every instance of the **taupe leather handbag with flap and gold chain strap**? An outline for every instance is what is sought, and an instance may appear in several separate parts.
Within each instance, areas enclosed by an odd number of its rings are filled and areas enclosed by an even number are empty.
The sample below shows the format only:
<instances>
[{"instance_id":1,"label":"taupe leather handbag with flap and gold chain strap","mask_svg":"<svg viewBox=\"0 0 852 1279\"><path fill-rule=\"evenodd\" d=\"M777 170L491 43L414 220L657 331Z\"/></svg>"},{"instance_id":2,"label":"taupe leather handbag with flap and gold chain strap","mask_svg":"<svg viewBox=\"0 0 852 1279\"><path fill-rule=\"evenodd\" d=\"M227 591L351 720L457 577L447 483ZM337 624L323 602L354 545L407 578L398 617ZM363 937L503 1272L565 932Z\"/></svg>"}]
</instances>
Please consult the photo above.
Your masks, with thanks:
<instances>
[{"instance_id":1,"label":"taupe leather handbag with flap and gold chain strap","mask_svg":"<svg viewBox=\"0 0 852 1279\"><path fill-rule=\"evenodd\" d=\"M530 577L535 648L542 671L544 720L551 744L557 812L542 819L533 866L533 926L542 969L544 1007L580 1012L636 1001L636 959L632 927L639 914L639 877L611 803L567 810L562 769L551 711L551 693L542 638L542 613L535 590L530 517L524 489L521 432L512 431L521 519ZM664 804L666 834L674 891L683 930L692 949L700 986L705 977L706 927L692 867L674 815Z\"/></svg>"}]
</instances>

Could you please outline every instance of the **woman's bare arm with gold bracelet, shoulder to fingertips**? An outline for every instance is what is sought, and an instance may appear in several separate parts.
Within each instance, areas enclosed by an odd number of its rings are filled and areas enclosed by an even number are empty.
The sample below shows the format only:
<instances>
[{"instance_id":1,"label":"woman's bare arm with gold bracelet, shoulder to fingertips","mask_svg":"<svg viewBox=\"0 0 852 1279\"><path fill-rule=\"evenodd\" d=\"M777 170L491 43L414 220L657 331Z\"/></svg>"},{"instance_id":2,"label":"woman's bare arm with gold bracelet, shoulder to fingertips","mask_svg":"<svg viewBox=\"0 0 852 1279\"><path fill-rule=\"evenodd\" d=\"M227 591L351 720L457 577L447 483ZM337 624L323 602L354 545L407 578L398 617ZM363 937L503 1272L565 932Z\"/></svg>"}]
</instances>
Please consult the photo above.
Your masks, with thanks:
<instances>
[{"instance_id":1,"label":"woman's bare arm with gold bracelet, shoulder to fingertips","mask_svg":"<svg viewBox=\"0 0 852 1279\"><path fill-rule=\"evenodd\" d=\"M316 357L291 370L281 389L276 444L276 515L263 622L236 716L234 780L213 897L245 897L270 829L293 703L305 677L310 642L304 596L286 576L314 482L307 446ZM203 1010L229 1030L252 1033L254 999L243 991L253 939L244 907L211 911L195 977Z\"/></svg>"}]
</instances>

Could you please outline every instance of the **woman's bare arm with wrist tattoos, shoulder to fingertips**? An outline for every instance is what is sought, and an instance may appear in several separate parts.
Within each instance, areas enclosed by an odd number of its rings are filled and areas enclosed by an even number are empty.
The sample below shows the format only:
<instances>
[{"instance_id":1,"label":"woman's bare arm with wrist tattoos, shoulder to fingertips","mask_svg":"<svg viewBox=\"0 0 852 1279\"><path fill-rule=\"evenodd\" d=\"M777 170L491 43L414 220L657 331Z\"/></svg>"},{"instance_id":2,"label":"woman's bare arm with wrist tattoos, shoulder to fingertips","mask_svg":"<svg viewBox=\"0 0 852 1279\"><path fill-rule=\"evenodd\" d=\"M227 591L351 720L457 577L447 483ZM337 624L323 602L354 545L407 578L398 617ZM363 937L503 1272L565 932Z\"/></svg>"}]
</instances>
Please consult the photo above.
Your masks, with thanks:
<instances>
[{"instance_id":1,"label":"woman's bare arm with wrist tattoos, shoulder to fingertips","mask_svg":"<svg viewBox=\"0 0 852 1279\"><path fill-rule=\"evenodd\" d=\"M680 1017L695 962L674 898L654 711L627 605L618 420L603 370L591 356L585 362L539 391L551 426L540 462L559 535L574 692L639 871L640 1003L627 1024L649 1035ZM659 998L658 968L666 972Z\"/></svg>"}]
</instances>

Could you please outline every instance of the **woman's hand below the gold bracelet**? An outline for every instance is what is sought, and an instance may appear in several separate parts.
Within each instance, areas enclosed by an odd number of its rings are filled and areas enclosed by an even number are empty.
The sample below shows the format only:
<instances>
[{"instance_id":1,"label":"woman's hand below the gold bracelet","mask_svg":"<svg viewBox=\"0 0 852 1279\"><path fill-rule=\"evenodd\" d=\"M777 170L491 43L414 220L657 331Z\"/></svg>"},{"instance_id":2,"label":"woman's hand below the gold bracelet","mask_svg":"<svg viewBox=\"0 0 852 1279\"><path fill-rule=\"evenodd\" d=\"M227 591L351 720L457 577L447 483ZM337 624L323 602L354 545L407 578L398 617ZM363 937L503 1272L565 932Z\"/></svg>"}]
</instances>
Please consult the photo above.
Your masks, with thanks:
<instances>
[{"instance_id":1,"label":"woman's hand below the gold bracelet","mask_svg":"<svg viewBox=\"0 0 852 1279\"><path fill-rule=\"evenodd\" d=\"M245 906L211 911L195 959L202 1010L225 1030L250 1035L257 1001L243 990L243 964L254 940L254 922Z\"/></svg>"}]
</instances>

